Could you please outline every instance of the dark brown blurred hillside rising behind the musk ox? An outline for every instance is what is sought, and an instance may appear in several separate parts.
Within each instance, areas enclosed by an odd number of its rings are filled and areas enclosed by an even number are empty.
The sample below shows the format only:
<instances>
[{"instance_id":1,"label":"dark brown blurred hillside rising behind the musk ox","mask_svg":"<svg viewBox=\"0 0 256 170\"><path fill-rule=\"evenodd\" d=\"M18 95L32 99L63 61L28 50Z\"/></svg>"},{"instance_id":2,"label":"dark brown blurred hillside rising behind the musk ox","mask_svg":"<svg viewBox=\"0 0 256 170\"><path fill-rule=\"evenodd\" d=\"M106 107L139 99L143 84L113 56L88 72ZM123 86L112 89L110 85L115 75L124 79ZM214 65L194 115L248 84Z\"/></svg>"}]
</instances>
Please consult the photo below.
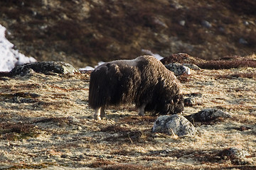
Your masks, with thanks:
<instances>
[{"instance_id":1,"label":"dark brown blurred hillside rising behind the musk ox","mask_svg":"<svg viewBox=\"0 0 256 170\"><path fill-rule=\"evenodd\" d=\"M0 1L0 23L26 56L75 67L186 52L215 59L256 51L256 1Z\"/></svg>"}]
</instances>

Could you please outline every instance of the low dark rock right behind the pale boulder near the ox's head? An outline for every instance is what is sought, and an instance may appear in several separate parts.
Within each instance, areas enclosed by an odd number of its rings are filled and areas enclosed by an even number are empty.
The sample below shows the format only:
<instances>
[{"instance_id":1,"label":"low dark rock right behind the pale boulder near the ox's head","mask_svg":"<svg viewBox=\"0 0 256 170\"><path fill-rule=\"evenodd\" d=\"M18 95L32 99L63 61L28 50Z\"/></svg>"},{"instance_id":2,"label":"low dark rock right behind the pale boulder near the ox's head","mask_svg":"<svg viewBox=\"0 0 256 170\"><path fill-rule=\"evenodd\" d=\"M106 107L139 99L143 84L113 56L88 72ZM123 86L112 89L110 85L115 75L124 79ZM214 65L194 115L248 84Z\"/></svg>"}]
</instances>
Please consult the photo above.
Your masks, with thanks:
<instances>
[{"instance_id":1,"label":"low dark rock right behind the pale boulder near the ox's head","mask_svg":"<svg viewBox=\"0 0 256 170\"><path fill-rule=\"evenodd\" d=\"M198 113L186 116L191 122L209 122L216 118L231 118L231 115L227 112L220 111L215 108L206 108Z\"/></svg>"}]
</instances>

